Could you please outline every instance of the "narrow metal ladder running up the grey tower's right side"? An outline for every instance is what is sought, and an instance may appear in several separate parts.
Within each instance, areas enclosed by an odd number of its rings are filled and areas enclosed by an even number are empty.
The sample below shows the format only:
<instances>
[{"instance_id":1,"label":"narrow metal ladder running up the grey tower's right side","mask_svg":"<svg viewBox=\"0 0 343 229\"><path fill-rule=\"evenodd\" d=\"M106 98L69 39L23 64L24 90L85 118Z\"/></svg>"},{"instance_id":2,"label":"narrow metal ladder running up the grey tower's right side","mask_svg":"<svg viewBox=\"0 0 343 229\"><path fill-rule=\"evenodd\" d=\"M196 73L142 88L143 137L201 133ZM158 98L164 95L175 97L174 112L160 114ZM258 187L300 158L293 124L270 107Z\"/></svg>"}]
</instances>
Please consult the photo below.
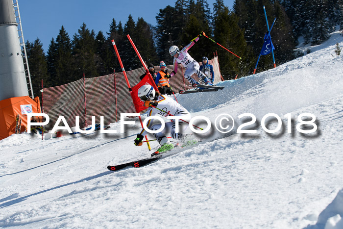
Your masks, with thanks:
<instances>
[{"instance_id":1,"label":"narrow metal ladder running up the grey tower's right side","mask_svg":"<svg viewBox=\"0 0 343 229\"><path fill-rule=\"evenodd\" d=\"M26 48L25 48L25 39L24 39L23 29L22 29L22 20L20 19L18 0L13 0L13 10L14 10L14 17L16 18L16 22L18 24L18 36L19 36L19 43L20 43L20 48L21 48L22 56L23 56L28 95L33 99L30 69L28 68L27 54L26 54Z\"/></svg>"}]
</instances>

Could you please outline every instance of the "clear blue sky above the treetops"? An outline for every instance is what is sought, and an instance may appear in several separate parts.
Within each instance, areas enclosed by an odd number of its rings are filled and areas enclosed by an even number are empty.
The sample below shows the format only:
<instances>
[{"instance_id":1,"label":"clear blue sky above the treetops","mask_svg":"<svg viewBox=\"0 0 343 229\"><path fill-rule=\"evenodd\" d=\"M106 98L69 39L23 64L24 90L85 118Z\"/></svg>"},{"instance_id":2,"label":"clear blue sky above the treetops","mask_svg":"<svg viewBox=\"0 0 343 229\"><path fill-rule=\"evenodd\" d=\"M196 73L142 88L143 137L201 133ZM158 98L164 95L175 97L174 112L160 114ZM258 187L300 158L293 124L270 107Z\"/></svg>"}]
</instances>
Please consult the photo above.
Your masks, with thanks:
<instances>
[{"instance_id":1,"label":"clear blue sky above the treetops","mask_svg":"<svg viewBox=\"0 0 343 229\"><path fill-rule=\"evenodd\" d=\"M224 0L224 4L232 9L234 0ZM56 38L63 25L73 39L73 35L82 23L87 28L107 32L114 18L124 25L131 14L137 22L139 17L147 23L156 25L156 15L173 1L165 0L18 0L25 41L33 42L37 37L43 43L44 51L48 51L51 38ZM211 10L215 0L207 0ZM201 29L199 29L201 30Z\"/></svg>"}]
</instances>

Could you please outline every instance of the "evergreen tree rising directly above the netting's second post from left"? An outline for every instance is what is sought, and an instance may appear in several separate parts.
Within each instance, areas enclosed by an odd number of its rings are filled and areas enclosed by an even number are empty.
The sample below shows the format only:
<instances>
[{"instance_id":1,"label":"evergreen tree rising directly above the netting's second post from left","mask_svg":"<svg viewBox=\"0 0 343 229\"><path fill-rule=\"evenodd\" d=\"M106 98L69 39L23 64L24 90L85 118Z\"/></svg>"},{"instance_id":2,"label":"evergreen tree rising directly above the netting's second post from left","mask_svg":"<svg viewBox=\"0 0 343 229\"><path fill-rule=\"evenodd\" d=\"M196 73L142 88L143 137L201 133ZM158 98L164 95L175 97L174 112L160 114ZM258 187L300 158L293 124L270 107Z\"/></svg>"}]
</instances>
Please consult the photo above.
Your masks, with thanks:
<instances>
[{"instance_id":1,"label":"evergreen tree rising directly above the netting's second post from left","mask_svg":"<svg viewBox=\"0 0 343 229\"><path fill-rule=\"evenodd\" d=\"M96 67L96 42L94 30L90 31L83 23L73 36L74 80L83 76L98 76Z\"/></svg>"}]
</instances>

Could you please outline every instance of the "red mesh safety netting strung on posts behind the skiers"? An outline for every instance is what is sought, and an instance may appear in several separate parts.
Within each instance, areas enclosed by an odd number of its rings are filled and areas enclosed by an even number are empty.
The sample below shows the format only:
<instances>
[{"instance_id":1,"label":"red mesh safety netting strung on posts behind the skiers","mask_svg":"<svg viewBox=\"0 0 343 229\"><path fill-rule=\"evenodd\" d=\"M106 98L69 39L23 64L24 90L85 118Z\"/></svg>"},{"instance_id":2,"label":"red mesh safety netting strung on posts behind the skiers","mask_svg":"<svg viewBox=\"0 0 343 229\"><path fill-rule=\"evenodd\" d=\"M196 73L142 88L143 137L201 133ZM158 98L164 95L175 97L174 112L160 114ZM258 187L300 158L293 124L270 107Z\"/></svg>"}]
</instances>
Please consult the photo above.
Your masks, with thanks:
<instances>
[{"instance_id":1,"label":"red mesh safety netting strung on posts behind the skiers","mask_svg":"<svg viewBox=\"0 0 343 229\"><path fill-rule=\"evenodd\" d=\"M221 81L218 56L209 63L213 65L216 84ZM172 72L173 66L169 65L167 69ZM159 71L160 67L156 66L155 72ZM179 90L193 88L184 78L184 72L185 68L179 65L177 74L170 78L175 94ZM143 73L143 67L126 72L131 87L140 82L139 77ZM195 74L192 77L199 81ZM120 121L121 113L136 113L123 73L82 78L65 85L44 88L43 91L43 112L50 118L45 126L47 130L52 129L59 116L63 116L70 127L75 126L75 117L79 116L79 127L83 128L92 124L92 116L96 117L96 123L100 123L100 116L104 116L104 125L108 125ZM60 126L63 126L62 122Z\"/></svg>"}]
</instances>

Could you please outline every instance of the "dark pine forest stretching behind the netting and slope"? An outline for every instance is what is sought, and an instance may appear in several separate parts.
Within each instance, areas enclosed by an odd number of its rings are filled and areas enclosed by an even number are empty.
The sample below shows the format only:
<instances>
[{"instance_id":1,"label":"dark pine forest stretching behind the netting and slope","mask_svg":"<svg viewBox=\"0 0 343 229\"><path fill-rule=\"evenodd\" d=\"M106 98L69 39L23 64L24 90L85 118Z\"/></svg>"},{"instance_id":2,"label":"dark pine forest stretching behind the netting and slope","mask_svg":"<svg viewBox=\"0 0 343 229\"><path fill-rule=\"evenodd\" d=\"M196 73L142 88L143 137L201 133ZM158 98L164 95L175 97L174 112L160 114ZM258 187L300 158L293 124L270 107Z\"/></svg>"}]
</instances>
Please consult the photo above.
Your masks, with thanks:
<instances>
[{"instance_id":1,"label":"dark pine forest stretching behind the netting and slope","mask_svg":"<svg viewBox=\"0 0 343 229\"><path fill-rule=\"evenodd\" d=\"M141 68L126 34L146 63L157 66L162 60L172 65L169 47L176 45L181 49L203 31L242 59L206 37L201 37L190 50L193 58L200 62L202 56L210 59L217 52L225 80L251 75L268 31L263 6L269 26L276 18L270 32L276 65L304 54L296 51L300 39L317 45L327 40L332 31L343 32L343 0L235 0L232 9L223 0L216 0L212 7L206 0L176 0L173 6L159 10L156 26L144 18L135 22L130 15L124 25L113 18L109 30L97 34L82 24L71 37L62 25L46 53L39 38L26 41L34 95L40 95L42 80L44 87L53 87L78 80L83 74L96 77L121 72L112 39L125 70ZM272 55L263 56L256 73L272 68L272 62Z\"/></svg>"}]
</instances>

